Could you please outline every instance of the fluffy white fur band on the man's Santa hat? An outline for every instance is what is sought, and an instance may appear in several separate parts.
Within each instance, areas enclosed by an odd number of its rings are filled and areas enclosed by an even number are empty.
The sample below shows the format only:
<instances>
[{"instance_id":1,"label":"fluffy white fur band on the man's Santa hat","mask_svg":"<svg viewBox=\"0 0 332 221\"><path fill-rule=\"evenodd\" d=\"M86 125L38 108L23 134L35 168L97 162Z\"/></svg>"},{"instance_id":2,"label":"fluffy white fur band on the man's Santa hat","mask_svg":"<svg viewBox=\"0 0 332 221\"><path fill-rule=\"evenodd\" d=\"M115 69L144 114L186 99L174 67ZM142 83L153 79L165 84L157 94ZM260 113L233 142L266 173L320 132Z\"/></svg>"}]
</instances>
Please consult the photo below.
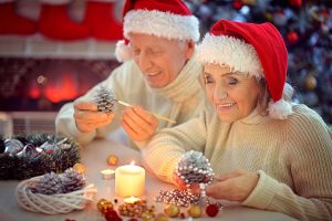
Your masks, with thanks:
<instances>
[{"instance_id":1,"label":"fluffy white fur band on the man's Santa hat","mask_svg":"<svg viewBox=\"0 0 332 221\"><path fill-rule=\"evenodd\" d=\"M124 17L124 35L129 32L166 39L199 40L199 22L194 15L177 15L157 10L132 10Z\"/></svg>"}]
</instances>

